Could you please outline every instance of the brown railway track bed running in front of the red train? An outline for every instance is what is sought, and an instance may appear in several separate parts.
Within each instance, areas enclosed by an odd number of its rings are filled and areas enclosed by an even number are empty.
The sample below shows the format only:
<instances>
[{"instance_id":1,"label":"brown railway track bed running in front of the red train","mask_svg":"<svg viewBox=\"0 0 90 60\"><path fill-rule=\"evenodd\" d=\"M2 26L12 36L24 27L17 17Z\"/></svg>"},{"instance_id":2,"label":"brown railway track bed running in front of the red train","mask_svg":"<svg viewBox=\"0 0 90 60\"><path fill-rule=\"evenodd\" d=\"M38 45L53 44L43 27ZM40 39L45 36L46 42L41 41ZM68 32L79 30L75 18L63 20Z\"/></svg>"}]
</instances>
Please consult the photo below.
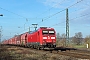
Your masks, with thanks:
<instances>
[{"instance_id":1,"label":"brown railway track bed running in front of the red train","mask_svg":"<svg viewBox=\"0 0 90 60\"><path fill-rule=\"evenodd\" d=\"M15 46L18 47L18 46ZM23 47L19 47L23 48ZM58 54L58 55L65 55L65 56L70 56L70 57L75 57L75 58L81 58L81 59L90 59L90 51L87 50L76 50L76 49L68 49L65 50L65 48L59 48L59 49L44 49L44 50L37 50L37 49L32 49L32 48L23 48L26 49L27 51L33 50L33 51L39 51L39 52L46 52L46 53L53 53L53 54Z\"/></svg>"}]
</instances>

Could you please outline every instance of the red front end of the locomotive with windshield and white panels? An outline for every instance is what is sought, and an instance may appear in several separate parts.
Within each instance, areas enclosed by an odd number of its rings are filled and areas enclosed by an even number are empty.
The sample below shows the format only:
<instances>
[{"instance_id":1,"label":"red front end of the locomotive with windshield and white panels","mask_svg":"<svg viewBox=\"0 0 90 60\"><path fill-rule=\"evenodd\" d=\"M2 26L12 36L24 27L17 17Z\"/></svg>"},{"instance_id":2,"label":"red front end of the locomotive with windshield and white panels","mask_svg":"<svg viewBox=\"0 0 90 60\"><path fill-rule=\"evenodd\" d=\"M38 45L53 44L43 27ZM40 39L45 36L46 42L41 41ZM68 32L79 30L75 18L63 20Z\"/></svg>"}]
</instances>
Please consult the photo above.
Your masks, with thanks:
<instances>
[{"instance_id":1,"label":"red front end of the locomotive with windshield and white panels","mask_svg":"<svg viewBox=\"0 0 90 60\"><path fill-rule=\"evenodd\" d=\"M56 33L53 28L42 29L42 45L43 47L55 48L56 47Z\"/></svg>"}]
</instances>

